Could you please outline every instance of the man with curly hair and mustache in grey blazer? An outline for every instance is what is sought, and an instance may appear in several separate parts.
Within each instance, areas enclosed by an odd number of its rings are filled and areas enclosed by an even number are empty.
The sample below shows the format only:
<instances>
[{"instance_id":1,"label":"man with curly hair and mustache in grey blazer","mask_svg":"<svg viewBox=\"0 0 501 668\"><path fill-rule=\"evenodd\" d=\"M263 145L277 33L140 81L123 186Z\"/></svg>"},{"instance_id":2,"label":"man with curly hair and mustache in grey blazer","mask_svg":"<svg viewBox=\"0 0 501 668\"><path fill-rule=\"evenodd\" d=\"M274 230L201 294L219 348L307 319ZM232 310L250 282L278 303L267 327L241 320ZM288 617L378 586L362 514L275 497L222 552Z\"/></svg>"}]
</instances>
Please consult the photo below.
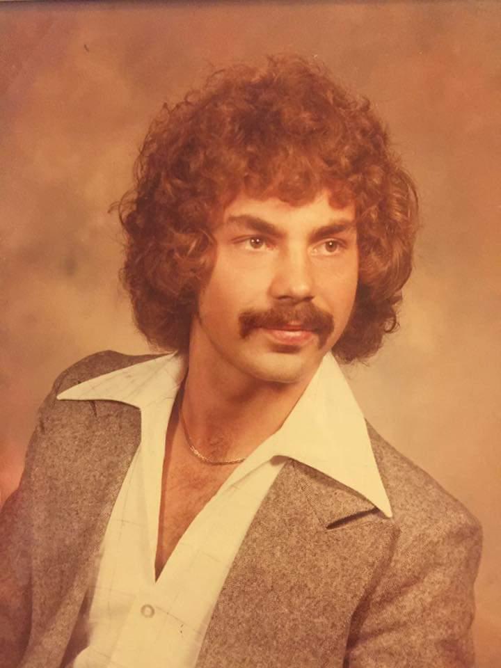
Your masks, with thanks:
<instances>
[{"instance_id":1,"label":"man with curly hair and mustache in grey blazer","mask_svg":"<svg viewBox=\"0 0 501 668\"><path fill-rule=\"evenodd\" d=\"M471 666L477 521L336 362L379 349L411 271L369 104L300 58L218 72L119 208L164 354L97 353L42 406L1 516L2 665Z\"/></svg>"}]
</instances>

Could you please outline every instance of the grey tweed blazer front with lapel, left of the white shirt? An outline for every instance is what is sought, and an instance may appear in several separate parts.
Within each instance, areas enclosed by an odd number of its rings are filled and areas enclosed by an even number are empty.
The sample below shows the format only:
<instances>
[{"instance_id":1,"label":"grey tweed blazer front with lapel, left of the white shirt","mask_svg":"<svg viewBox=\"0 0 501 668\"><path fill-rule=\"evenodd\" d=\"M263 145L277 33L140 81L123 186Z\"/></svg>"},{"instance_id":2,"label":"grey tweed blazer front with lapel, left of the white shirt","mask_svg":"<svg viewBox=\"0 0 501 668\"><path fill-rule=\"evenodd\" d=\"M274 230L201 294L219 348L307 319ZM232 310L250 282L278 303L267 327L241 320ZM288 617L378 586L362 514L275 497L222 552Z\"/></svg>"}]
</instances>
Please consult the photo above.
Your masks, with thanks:
<instances>
[{"instance_id":1,"label":"grey tweed blazer front with lapel, left of the white shirt","mask_svg":"<svg viewBox=\"0 0 501 668\"><path fill-rule=\"evenodd\" d=\"M62 657L141 437L141 415L132 406L60 401L57 408L45 424L48 445L39 444L33 466L36 498L43 500L33 509L33 665L38 651L40 665ZM37 647L39 637L45 642Z\"/></svg>"}]
</instances>

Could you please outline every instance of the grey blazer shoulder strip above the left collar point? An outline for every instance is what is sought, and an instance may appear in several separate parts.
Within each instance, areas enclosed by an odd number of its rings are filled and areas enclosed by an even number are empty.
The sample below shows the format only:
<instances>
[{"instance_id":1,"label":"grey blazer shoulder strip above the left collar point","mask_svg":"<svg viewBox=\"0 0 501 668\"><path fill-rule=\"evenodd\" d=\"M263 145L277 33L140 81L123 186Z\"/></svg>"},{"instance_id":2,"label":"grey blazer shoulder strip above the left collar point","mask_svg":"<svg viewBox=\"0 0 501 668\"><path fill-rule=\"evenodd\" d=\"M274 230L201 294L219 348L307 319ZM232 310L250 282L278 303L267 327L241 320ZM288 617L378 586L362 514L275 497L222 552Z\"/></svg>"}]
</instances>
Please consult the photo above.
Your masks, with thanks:
<instances>
[{"instance_id":1,"label":"grey blazer shoulder strip above the left collar point","mask_svg":"<svg viewBox=\"0 0 501 668\"><path fill-rule=\"evenodd\" d=\"M73 385L83 383L97 376L104 376L118 369L125 369L134 364L148 362L161 355L125 355L114 350L102 350L78 360L67 367L57 377L54 388L57 392L63 392Z\"/></svg>"}]
</instances>

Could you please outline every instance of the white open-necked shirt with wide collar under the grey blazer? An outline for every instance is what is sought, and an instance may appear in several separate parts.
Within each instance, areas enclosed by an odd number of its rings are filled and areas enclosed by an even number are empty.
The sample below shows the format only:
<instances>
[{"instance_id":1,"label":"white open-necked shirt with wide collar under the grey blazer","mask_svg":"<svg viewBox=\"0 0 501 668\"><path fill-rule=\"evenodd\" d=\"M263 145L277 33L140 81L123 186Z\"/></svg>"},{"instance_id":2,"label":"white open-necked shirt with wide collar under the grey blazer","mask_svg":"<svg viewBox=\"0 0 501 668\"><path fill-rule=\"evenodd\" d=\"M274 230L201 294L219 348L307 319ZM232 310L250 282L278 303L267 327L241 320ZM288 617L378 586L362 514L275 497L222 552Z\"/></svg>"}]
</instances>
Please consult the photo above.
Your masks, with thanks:
<instances>
[{"instance_id":1,"label":"white open-necked shirt with wide collar under the grey blazer","mask_svg":"<svg viewBox=\"0 0 501 668\"><path fill-rule=\"evenodd\" d=\"M283 426L232 472L155 581L165 435L183 377L182 359L163 356L58 395L111 399L141 410L141 444L72 636L80 650L74 668L193 668L234 557L287 459L353 488L391 516L365 420L328 354Z\"/></svg>"}]
</instances>

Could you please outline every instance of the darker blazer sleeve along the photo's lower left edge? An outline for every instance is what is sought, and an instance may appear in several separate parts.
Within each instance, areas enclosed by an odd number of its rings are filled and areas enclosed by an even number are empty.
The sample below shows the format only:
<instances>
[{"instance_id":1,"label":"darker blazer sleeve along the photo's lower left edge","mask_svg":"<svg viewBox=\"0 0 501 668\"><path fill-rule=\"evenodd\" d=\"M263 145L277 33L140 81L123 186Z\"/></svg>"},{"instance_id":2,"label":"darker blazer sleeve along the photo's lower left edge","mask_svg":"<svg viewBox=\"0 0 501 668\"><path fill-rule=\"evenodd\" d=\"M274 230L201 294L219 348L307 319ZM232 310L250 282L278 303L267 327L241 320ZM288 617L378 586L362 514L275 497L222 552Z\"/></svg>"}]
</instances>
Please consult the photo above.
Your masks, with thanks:
<instances>
[{"instance_id":1,"label":"darker blazer sleeve along the photo's lower left edge","mask_svg":"<svg viewBox=\"0 0 501 668\"><path fill-rule=\"evenodd\" d=\"M31 630L31 470L45 431L44 419L66 372L58 376L38 413L17 490L0 511L0 665L15 668L22 661Z\"/></svg>"}]
</instances>

